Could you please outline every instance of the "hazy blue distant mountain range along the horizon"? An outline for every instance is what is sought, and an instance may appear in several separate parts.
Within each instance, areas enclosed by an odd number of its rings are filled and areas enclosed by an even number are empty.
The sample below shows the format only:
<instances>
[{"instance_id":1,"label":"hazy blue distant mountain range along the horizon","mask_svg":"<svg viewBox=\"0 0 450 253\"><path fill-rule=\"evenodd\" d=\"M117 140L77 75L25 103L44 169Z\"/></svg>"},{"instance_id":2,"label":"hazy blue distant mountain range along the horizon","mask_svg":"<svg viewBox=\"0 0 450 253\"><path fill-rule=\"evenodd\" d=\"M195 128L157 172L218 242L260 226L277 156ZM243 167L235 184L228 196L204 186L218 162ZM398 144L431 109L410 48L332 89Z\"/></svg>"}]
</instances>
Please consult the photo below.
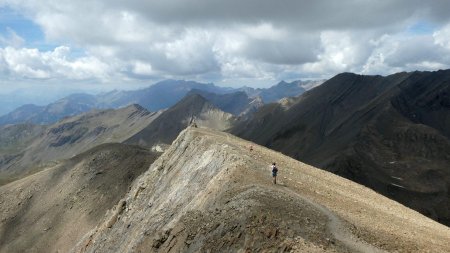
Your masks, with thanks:
<instances>
[{"instance_id":1,"label":"hazy blue distant mountain range along the horizon","mask_svg":"<svg viewBox=\"0 0 450 253\"><path fill-rule=\"evenodd\" d=\"M279 84L268 89L253 88L224 88L215 86L214 84L204 84L194 81L183 80L165 80L158 82L148 88L101 93L98 95L90 95L84 93L72 94L64 97L56 102L46 106L37 106L34 104L26 104L0 117L0 125L33 123L33 124L52 124L64 117L74 116L92 109L117 109L131 104L139 104L149 111L159 111L167 109L175 105L186 94L191 91L203 92L203 95L215 94L216 96L224 95L225 98L212 99L214 103L218 101L216 106L224 107L225 111L235 115L240 114L246 108L238 108L233 102L241 100L255 100L253 107L256 108L264 102L272 102L285 96L297 96L305 91L303 87L311 87L320 84L319 81L295 81L292 83L280 82ZM308 86L309 85L309 86ZM245 94L242 92L244 91ZM234 94L234 95L230 95ZM232 97L236 96L234 101ZM247 97L244 97L247 96ZM259 99L261 96L261 99ZM228 105L224 101L228 101ZM226 108L228 106L228 108ZM231 108L233 106L234 108ZM240 104L239 106L245 106ZM252 112L250 109L247 112Z\"/></svg>"}]
</instances>

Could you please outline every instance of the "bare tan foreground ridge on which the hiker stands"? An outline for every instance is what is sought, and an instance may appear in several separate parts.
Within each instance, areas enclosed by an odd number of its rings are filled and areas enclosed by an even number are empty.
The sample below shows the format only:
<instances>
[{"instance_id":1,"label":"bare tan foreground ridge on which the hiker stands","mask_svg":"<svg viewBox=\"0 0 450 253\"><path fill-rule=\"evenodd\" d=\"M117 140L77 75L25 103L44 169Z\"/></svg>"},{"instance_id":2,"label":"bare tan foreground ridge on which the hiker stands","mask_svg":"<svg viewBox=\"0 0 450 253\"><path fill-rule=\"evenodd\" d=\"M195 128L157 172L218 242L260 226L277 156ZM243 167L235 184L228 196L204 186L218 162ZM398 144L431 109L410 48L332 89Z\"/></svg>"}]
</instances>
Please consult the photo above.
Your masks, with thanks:
<instances>
[{"instance_id":1,"label":"bare tan foreground ridge on which the hiker stands","mask_svg":"<svg viewBox=\"0 0 450 253\"><path fill-rule=\"evenodd\" d=\"M188 128L72 251L450 252L450 229L281 153Z\"/></svg>"}]
</instances>

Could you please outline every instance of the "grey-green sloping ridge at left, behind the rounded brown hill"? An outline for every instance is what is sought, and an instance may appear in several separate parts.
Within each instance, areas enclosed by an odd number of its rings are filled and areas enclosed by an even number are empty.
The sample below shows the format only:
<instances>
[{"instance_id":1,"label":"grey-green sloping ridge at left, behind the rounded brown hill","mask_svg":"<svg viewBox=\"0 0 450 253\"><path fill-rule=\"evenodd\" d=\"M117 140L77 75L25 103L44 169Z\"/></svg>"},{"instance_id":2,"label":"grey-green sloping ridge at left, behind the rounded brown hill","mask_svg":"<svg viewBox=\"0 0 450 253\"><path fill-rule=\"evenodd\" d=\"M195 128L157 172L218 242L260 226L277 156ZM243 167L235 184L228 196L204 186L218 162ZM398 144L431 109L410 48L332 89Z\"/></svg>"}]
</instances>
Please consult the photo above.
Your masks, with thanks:
<instances>
[{"instance_id":1,"label":"grey-green sloping ridge at left, behind the rounded brown hill","mask_svg":"<svg viewBox=\"0 0 450 253\"><path fill-rule=\"evenodd\" d=\"M0 153L0 178L16 177L35 170L41 163L70 158L102 143L123 142L158 115L141 106L131 105L66 118L27 139L25 148ZM9 128L18 131L22 127Z\"/></svg>"}]
</instances>

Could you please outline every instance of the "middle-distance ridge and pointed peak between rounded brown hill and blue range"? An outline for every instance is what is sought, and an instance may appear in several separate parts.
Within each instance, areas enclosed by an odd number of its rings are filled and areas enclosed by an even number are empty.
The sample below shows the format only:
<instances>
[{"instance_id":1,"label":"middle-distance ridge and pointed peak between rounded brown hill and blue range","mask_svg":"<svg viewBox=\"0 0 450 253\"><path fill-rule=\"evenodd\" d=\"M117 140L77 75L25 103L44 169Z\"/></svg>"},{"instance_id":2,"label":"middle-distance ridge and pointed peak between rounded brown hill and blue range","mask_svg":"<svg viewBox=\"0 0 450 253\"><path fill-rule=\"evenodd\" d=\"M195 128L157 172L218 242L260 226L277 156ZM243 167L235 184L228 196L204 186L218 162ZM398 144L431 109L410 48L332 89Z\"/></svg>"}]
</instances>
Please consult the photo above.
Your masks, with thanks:
<instances>
[{"instance_id":1,"label":"middle-distance ridge and pointed peak between rounded brown hill and blue range","mask_svg":"<svg viewBox=\"0 0 450 253\"><path fill-rule=\"evenodd\" d=\"M235 122L232 114L198 94L190 94L159 112L134 104L116 110L93 110L48 126L3 126L0 181L11 181L103 143L134 144L161 152L192 123L227 130Z\"/></svg>"}]
</instances>

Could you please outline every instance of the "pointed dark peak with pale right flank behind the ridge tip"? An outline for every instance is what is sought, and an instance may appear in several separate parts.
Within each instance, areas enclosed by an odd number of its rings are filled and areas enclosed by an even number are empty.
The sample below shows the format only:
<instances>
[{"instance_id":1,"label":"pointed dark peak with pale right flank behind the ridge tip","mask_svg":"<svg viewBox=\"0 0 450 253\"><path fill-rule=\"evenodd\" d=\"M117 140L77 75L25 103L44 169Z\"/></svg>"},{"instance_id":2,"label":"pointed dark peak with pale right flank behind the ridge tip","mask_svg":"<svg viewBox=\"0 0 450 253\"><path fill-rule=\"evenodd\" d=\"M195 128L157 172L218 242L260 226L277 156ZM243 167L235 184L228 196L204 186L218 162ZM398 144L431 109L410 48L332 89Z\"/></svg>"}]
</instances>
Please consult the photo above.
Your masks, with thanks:
<instances>
[{"instance_id":1,"label":"pointed dark peak with pale right flank behind the ridge tip","mask_svg":"<svg viewBox=\"0 0 450 253\"><path fill-rule=\"evenodd\" d=\"M178 134L192 123L218 130L230 128L235 122L233 115L223 112L198 94L184 97L167 109L148 126L126 140L125 143L153 147L155 144L170 145Z\"/></svg>"}]
</instances>

